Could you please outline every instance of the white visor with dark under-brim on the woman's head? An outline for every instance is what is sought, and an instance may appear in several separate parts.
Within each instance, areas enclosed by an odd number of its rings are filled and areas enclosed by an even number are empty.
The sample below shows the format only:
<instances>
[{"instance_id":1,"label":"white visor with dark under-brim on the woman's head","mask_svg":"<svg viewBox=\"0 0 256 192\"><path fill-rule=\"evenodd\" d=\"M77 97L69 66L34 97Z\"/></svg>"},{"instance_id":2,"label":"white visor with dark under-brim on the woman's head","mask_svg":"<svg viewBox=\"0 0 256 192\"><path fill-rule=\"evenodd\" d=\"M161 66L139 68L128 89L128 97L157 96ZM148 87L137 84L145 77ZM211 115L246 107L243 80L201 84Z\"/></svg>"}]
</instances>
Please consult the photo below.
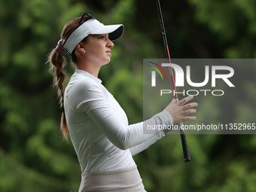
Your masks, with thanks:
<instances>
[{"instance_id":1,"label":"white visor with dark under-brim on the woman's head","mask_svg":"<svg viewBox=\"0 0 256 192\"><path fill-rule=\"evenodd\" d=\"M123 35L123 25L108 25L100 23L96 19L90 19L84 22L78 29L75 29L74 32L67 38L64 44L64 48L68 51L69 54L75 49L84 38L88 35L103 35L108 34L108 38L111 41L117 40L120 36Z\"/></svg>"}]
</instances>

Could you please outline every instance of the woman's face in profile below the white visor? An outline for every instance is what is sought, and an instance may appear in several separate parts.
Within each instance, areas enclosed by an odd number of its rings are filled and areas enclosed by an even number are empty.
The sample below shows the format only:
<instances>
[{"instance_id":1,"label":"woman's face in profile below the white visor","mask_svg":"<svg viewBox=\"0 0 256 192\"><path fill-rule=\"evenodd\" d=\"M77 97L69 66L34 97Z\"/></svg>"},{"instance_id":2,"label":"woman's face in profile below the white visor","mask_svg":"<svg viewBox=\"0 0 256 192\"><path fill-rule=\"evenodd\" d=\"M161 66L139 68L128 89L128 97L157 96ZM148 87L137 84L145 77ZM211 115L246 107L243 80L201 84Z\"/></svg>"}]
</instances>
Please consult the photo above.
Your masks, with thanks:
<instances>
[{"instance_id":1,"label":"woman's face in profile below the white visor","mask_svg":"<svg viewBox=\"0 0 256 192\"><path fill-rule=\"evenodd\" d=\"M85 59L87 63L103 66L110 62L112 41L105 35L89 35L84 43L86 50Z\"/></svg>"}]
</instances>

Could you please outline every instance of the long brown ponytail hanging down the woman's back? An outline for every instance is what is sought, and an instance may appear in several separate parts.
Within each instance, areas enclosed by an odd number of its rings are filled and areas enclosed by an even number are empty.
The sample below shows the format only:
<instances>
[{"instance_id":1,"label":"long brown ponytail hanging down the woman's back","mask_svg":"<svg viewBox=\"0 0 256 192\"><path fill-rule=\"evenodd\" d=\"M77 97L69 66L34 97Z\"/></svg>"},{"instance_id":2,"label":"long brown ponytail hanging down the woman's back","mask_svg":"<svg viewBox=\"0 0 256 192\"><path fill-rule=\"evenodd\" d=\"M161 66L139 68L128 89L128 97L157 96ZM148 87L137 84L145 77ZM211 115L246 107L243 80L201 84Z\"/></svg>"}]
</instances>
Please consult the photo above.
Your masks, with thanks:
<instances>
[{"instance_id":1,"label":"long brown ponytail hanging down the woman's back","mask_svg":"<svg viewBox=\"0 0 256 192\"><path fill-rule=\"evenodd\" d=\"M62 41L59 42L62 44ZM59 105L62 108L62 117L60 121L60 130L64 139L68 139L69 130L66 123L66 115L64 109L64 92L66 79L65 66L66 58L55 48L48 56L48 62L50 62L50 73L53 75L53 85L58 89Z\"/></svg>"}]
</instances>

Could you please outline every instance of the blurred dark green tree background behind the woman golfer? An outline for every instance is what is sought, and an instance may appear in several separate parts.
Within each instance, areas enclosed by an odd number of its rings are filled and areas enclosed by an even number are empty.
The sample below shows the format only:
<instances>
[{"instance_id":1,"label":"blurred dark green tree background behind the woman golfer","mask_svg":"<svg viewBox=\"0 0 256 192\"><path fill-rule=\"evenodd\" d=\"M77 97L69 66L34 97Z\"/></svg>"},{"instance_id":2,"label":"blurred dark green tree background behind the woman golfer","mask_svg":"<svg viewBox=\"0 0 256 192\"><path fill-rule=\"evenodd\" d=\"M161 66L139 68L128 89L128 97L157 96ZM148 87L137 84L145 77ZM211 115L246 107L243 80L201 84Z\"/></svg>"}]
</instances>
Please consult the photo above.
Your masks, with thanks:
<instances>
[{"instance_id":1,"label":"blurred dark green tree background behind the woman golfer","mask_svg":"<svg viewBox=\"0 0 256 192\"><path fill-rule=\"evenodd\" d=\"M173 58L254 58L256 1L161 0ZM59 133L61 110L45 64L62 27L84 11L105 24L123 23L111 63L99 74L130 123L142 120L142 59L165 52L154 0L0 1L0 191L78 190L81 170L72 143ZM243 123L256 114L255 64L241 66L242 98L195 98L198 122ZM67 68L69 76L74 69ZM230 116L229 114L233 114ZM248 122L248 123L255 123ZM254 135L168 135L134 158L148 192L255 191Z\"/></svg>"}]
</instances>

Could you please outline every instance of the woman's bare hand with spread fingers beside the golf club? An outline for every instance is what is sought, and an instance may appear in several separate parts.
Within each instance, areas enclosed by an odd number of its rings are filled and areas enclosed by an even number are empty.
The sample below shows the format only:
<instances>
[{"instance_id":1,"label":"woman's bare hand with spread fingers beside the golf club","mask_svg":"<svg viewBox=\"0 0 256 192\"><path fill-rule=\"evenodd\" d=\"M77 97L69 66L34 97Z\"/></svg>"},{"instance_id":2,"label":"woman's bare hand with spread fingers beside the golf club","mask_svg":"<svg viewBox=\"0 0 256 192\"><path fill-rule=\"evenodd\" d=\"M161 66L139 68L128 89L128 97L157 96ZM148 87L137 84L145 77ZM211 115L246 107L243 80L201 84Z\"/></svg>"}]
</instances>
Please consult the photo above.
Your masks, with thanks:
<instances>
[{"instance_id":1,"label":"woman's bare hand with spread fingers beside the golf club","mask_svg":"<svg viewBox=\"0 0 256 192\"><path fill-rule=\"evenodd\" d=\"M197 117L186 116L187 114L192 114L197 111L194 109L194 107L197 107L198 105L197 102L187 103L193 98L194 96L187 96L179 102L175 102L175 99L172 99L172 102L170 102L163 110L168 111L172 115L173 124L180 123L181 121L197 119Z\"/></svg>"}]
</instances>

